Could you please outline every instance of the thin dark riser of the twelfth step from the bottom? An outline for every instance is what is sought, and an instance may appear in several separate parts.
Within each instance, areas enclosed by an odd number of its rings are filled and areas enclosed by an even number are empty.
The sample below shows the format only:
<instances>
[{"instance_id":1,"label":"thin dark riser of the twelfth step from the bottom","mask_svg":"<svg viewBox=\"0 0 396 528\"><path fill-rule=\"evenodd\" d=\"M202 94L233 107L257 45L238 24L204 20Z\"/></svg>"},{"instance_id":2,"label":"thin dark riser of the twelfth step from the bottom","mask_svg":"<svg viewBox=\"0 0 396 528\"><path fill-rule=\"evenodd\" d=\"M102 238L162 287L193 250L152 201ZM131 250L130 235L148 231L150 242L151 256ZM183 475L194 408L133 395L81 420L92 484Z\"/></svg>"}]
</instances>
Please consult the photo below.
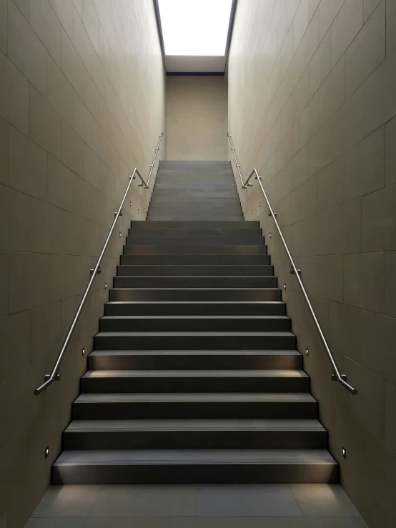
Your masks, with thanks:
<instances>
[{"instance_id":1,"label":"thin dark riser of the twelfth step from the bottom","mask_svg":"<svg viewBox=\"0 0 396 528\"><path fill-rule=\"evenodd\" d=\"M122 266L269 266L269 255L122 255Z\"/></svg>"}]
</instances>

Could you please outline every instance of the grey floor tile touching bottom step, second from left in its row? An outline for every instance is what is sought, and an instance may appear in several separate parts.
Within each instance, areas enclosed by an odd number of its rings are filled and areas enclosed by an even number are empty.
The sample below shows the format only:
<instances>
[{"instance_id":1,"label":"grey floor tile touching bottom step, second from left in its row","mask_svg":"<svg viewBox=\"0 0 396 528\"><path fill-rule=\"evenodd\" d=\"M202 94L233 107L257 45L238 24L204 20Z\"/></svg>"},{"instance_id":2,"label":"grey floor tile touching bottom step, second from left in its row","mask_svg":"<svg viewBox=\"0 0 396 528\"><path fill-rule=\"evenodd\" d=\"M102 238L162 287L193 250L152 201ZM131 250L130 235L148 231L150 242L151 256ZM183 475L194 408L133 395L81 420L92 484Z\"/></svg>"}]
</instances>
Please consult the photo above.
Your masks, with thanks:
<instances>
[{"instance_id":1,"label":"grey floor tile touching bottom step, second from left in its row","mask_svg":"<svg viewBox=\"0 0 396 528\"><path fill-rule=\"evenodd\" d=\"M184 517L194 515L189 486L102 486L91 517Z\"/></svg>"}]
</instances>

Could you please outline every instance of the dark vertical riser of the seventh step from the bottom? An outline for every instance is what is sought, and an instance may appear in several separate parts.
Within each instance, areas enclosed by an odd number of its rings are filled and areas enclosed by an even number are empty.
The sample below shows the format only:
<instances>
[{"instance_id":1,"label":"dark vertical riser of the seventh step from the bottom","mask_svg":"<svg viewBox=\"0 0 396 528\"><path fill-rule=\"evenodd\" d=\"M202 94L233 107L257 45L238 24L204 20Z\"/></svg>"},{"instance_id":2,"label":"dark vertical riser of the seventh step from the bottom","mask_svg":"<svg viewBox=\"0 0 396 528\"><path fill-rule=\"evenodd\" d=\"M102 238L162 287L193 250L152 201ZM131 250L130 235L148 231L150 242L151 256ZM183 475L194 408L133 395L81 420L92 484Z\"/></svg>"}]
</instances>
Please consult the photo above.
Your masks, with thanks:
<instances>
[{"instance_id":1,"label":"dark vertical riser of the seventh step from the bottom","mask_svg":"<svg viewBox=\"0 0 396 528\"><path fill-rule=\"evenodd\" d=\"M100 332L290 332L290 319L101 319Z\"/></svg>"}]
</instances>

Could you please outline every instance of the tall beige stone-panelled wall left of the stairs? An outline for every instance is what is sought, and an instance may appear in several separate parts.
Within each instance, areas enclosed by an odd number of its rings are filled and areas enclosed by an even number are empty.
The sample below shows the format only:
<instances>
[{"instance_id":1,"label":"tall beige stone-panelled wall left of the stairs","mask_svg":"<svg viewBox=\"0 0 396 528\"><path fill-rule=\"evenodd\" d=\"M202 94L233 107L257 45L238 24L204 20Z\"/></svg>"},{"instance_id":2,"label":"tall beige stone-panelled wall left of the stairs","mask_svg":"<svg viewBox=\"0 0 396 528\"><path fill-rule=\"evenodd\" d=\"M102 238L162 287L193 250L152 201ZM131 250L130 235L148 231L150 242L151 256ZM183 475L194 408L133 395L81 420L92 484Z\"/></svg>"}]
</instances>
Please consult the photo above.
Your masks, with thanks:
<instances>
[{"instance_id":1,"label":"tall beige stone-panelled wall left of the stairs","mask_svg":"<svg viewBox=\"0 0 396 528\"><path fill-rule=\"evenodd\" d=\"M129 174L138 166L147 176L162 130L152 1L0 0L1 527L22 527L49 483L104 284L130 219L145 216L149 191L136 182L61 382L39 397L33 389L59 351Z\"/></svg>"}]
</instances>

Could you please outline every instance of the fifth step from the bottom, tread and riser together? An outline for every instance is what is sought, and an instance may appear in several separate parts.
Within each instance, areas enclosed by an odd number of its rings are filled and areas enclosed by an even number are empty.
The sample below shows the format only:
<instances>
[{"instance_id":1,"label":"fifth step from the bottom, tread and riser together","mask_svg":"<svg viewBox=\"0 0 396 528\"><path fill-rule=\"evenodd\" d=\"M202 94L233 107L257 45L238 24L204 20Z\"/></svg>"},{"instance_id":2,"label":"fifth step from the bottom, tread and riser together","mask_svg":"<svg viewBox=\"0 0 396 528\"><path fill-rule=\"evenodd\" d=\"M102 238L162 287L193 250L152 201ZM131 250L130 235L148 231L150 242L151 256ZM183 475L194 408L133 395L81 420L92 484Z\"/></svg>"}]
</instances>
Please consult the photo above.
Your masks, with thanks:
<instances>
[{"instance_id":1,"label":"fifth step from the bottom, tread and riser together","mask_svg":"<svg viewBox=\"0 0 396 528\"><path fill-rule=\"evenodd\" d=\"M94 350L89 370L302 369L296 350Z\"/></svg>"}]
</instances>

